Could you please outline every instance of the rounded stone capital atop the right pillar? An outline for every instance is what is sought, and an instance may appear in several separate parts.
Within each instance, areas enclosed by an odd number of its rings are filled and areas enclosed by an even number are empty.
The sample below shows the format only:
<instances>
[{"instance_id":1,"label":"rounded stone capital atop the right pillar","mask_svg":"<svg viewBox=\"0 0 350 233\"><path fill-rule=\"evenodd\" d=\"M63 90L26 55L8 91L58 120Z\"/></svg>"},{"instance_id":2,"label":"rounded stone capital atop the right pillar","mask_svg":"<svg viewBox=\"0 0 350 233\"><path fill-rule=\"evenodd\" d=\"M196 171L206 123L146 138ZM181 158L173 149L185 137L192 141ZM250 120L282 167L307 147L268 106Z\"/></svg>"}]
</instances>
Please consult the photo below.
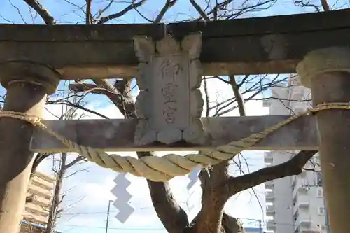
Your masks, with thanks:
<instances>
[{"instance_id":1,"label":"rounded stone capital atop the right pillar","mask_svg":"<svg viewBox=\"0 0 350 233\"><path fill-rule=\"evenodd\" d=\"M305 87L311 87L311 78L316 78L321 73L350 73L350 48L330 47L311 51L297 64L296 71Z\"/></svg>"}]
</instances>

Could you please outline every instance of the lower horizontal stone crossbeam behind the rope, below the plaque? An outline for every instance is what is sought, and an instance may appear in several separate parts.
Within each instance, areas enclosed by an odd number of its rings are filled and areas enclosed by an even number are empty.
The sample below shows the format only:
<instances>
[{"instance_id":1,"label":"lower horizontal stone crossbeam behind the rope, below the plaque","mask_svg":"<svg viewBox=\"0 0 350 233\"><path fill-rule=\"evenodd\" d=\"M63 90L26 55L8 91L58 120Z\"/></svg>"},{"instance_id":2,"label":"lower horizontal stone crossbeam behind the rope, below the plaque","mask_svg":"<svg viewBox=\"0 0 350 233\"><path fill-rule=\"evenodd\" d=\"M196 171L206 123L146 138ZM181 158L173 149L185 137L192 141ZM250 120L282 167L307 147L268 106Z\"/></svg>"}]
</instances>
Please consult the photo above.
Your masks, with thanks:
<instances>
[{"instance_id":1,"label":"lower horizontal stone crossbeam behind the rope, below the plaque","mask_svg":"<svg viewBox=\"0 0 350 233\"><path fill-rule=\"evenodd\" d=\"M66 138L83 146L101 148L106 151L172 151L204 150L221 146L230 141L249 136L255 132L286 120L285 115L248 117L202 118L206 141L202 144L151 143L138 146L134 143L137 120L45 120L45 125ZM71 152L57 139L36 130L31 141L31 149L36 152ZM316 120L312 115L302 116L289 125L277 130L250 150L318 150Z\"/></svg>"}]
</instances>

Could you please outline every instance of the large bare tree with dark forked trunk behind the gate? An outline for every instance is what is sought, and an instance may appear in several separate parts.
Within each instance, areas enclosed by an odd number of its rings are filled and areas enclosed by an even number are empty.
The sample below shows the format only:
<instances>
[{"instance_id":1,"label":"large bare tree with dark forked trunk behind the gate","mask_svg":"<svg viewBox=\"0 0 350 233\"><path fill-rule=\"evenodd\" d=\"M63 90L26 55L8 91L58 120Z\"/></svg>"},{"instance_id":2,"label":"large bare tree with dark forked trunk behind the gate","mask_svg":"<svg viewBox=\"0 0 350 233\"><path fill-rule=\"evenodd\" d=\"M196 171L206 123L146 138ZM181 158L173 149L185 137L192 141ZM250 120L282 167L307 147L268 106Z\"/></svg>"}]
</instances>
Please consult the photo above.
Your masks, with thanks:
<instances>
[{"instance_id":1,"label":"large bare tree with dark forked trunk behind the gate","mask_svg":"<svg viewBox=\"0 0 350 233\"><path fill-rule=\"evenodd\" d=\"M102 15L106 13L106 10L111 8L113 3L116 2L114 0L109 0L107 6L102 10L99 10L96 14L97 19L94 19L91 13L92 0L85 1L86 8L80 8L80 10L85 12L86 24L94 24L95 22L97 22L97 24L104 24L106 22L109 22L110 20L122 17L126 13L130 12L130 10L136 10L139 13L139 6L142 6L146 2L146 0L138 0L137 2L136 0L132 0L132 3L130 3L130 5L124 8L123 10L120 10L120 12L103 17ZM209 21L212 18L214 18L214 20L218 20L239 17L243 13L252 10L260 10L261 8L269 7L274 2L276 2L275 0L258 0L258 3L251 4L248 3L248 1L249 0L243 0L239 8L237 8L237 6L235 6L236 8L233 8L232 0L223 0L221 2L216 1L216 3L214 4L213 2L210 3L210 1L205 1L207 8L201 8L200 5L197 3L198 1L195 0L190 0L190 3L200 14L199 20L204 19ZM320 1L322 2L326 0ZM33 8L34 10L36 10L36 12L39 15L41 15L46 24L55 24L55 20L53 20L53 17L50 16L50 13L48 13L48 11L45 10L45 8L43 8L43 6L41 6L38 0L25 0L25 2L29 2L28 5L31 6L31 8ZM162 19L165 17L167 10L174 6L176 2L177 0L166 0L165 5L160 10L159 15L155 17L155 20L153 22L161 22ZM212 8L213 5L215 5L214 8ZM43 13L46 13L46 15ZM144 17L144 15L142 15L141 13L139 14L142 17ZM49 17L52 17L51 21L48 20ZM148 20L146 17L144 18ZM151 20L148 20L148 22L151 22ZM253 94L251 94L251 97L248 97L248 99L253 99L260 92L267 90L268 87L271 87L272 85L275 85L279 82L278 80L271 80L269 81L269 83L266 83L263 82L265 78L263 76L260 77L248 75L245 76L243 80L241 80L238 84L235 80L235 76L230 76L229 80L225 80L220 77L218 78L232 86L232 91L234 92L235 97L232 99L225 100L221 104L217 104L215 107L212 108L209 108L209 97L207 97L207 115L209 115L209 111L214 108L216 109L216 115L228 113L229 111L232 111L235 108L239 108L239 113L241 115L246 115L244 109L244 98L242 97L242 94L251 92ZM260 80L256 81L259 78ZM116 83L113 84L110 83L109 80L93 81L94 84L75 83L70 85L69 88L74 92L84 92L85 94L87 94L87 92L91 92L93 94L103 94L106 97L109 97L113 104L120 110L121 113L123 113L125 118L137 118L137 114L134 108L134 101L130 93L130 90L132 88L130 86L130 80L117 80ZM243 85L246 85L246 89L244 89L244 92L241 93L239 88ZM68 106L77 106L76 103L70 102L69 99L61 99L52 102L55 102L55 104L57 103L67 104ZM232 104L237 104L237 106L232 106ZM137 153L137 155L138 157L153 156L153 153L139 152ZM233 222L238 223L237 220L223 213L223 206L225 206L225 203L227 202L228 198L231 195L240 192L241 190L253 188L253 186L265 182L266 180L281 178L284 176L289 176L290 174L296 174L297 172L300 172L300 169L298 170L297 166L302 164L302 161L306 160L306 158L306 155L302 156L298 154L292 160L290 160L289 163L286 162L288 163L285 163L286 165L280 164L275 167L260 169L251 174L245 174L236 178L228 176L228 162L223 162L222 164L218 164L213 167L208 167L207 169L202 169L202 171L200 172L200 180L202 182L201 185L203 190L202 209L193 221L193 223L191 223L191 225L195 225L195 229L191 229L190 232L235 232L235 230L232 230L232 228L230 229L228 225L232 225ZM67 165L69 166L69 164ZM190 227L186 212L183 211L183 209L181 209L181 206L179 206L179 204L174 199L172 190L170 190L169 188L169 183L157 183L153 181L147 182L150 188L153 206L155 207L155 211L157 212L158 217L165 225L167 232L186 232L186 230L188 230L188 227ZM57 213L59 213L59 209L57 209Z\"/></svg>"}]
</instances>

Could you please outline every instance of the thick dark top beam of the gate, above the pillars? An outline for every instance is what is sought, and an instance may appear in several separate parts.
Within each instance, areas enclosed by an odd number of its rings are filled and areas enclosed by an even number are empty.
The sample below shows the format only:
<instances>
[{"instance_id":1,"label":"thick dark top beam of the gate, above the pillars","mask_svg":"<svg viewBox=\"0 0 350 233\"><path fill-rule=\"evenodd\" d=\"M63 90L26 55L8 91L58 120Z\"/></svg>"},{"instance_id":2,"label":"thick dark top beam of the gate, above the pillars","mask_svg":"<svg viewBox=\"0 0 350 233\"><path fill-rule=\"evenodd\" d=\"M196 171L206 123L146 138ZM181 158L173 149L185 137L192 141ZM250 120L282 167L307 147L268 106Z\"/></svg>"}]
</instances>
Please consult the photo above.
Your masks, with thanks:
<instances>
[{"instance_id":1,"label":"thick dark top beam of the gate, above the pillars","mask_svg":"<svg viewBox=\"0 0 350 233\"><path fill-rule=\"evenodd\" d=\"M168 25L1 24L0 63L10 59L41 62L58 69L63 79L73 80L134 76L138 64L134 36L157 40L166 31L176 38L201 31L200 61L206 75L295 73L307 52L349 45L349 15L350 10L344 9Z\"/></svg>"}]
</instances>

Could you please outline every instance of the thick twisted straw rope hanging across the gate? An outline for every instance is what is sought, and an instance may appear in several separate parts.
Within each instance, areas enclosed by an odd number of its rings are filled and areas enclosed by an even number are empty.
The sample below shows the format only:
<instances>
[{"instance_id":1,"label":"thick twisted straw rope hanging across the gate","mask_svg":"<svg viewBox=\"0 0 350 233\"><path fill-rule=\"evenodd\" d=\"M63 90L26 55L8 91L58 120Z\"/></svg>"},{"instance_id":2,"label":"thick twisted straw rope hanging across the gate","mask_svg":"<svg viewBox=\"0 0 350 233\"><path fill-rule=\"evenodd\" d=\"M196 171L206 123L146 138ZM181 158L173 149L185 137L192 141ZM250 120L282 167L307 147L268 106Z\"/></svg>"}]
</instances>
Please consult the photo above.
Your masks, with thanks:
<instances>
[{"instance_id":1,"label":"thick twisted straw rope hanging across the gate","mask_svg":"<svg viewBox=\"0 0 350 233\"><path fill-rule=\"evenodd\" d=\"M263 130L262 132L251 134L240 141L232 141L227 145L218 146L213 150L202 152L201 154L188 154L184 156L168 154L162 157L146 156L141 157L139 160L130 156L121 156L117 154L109 155L103 150L79 145L78 143L75 143L69 139L65 139L56 132L52 132L52 130L48 129L48 127L41 122L41 118L36 116L13 111L1 111L0 118L15 118L18 120L27 121L32 125L45 130L52 136L55 136L56 139L62 141L65 146L73 149L80 155L86 157L87 160L90 160L101 167L106 167L112 169L113 171L129 172L134 176L142 176L151 181L169 181L174 176L183 176L190 173L190 171L195 169L195 167L198 165L207 167L211 164L218 164L224 160L230 160L242 150L246 150L247 148L254 146L276 129L287 125L293 120L300 118L302 115L309 115L311 113L317 113L328 109L350 110L350 104L320 104L315 108L305 111L304 113L293 115L283 122L279 122L278 124Z\"/></svg>"}]
</instances>

